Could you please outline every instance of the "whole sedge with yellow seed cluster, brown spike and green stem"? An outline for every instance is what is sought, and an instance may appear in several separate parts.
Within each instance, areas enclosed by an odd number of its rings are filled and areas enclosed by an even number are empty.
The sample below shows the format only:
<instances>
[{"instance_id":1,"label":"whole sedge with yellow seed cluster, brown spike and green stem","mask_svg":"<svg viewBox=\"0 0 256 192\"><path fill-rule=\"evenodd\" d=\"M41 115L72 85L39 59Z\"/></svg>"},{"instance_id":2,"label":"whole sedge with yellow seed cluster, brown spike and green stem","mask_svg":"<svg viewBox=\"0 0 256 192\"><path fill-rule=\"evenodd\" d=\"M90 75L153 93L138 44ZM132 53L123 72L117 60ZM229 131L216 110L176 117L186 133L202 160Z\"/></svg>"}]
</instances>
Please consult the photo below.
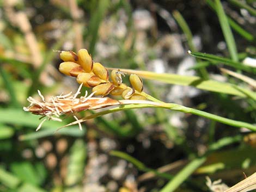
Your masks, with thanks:
<instances>
[{"instance_id":1,"label":"whole sedge with yellow seed cluster, brown spike and green stem","mask_svg":"<svg viewBox=\"0 0 256 192\"><path fill-rule=\"evenodd\" d=\"M41 119L43 119L38 128L36 128L36 131L40 129L42 123L47 119L62 121L61 116L63 115L73 115L75 118L74 122L66 126L78 124L80 129L82 129L81 123L88 119L118 112L120 110L149 107L190 113L233 127L243 127L251 131L256 131L256 126L251 123L227 119L180 104L166 103L147 94L143 91L143 81L141 77L135 73L147 77L150 72L107 69L102 64L96 63L87 49L80 49L78 53L73 51L60 51L60 59L64 62L59 65L59 71L64 73L64 75L75 77L80 86L75 94L69 93L66 95L52 96L50 101L45 101L44 96L42 96L39 90L38 94L41 97L41 101L36 101L33 97L28 97L28 101L31 104L23 109L27 112L41 115ZM131 86L123 83L122 77L127 73L130 73L129 80ZM79 97L78 95L81 93L82 86L92 88L92 94L88 95L86 92L86 95ZM109 96L113 96L113 98ZM123 99L118 99L118 96L119 98L121 96ZM76 117L76 113L82 112L83 110L95 110L109 106L115 107L102 110L101 112L83 117L82 119Z\"/></svg>"}]
</instances>

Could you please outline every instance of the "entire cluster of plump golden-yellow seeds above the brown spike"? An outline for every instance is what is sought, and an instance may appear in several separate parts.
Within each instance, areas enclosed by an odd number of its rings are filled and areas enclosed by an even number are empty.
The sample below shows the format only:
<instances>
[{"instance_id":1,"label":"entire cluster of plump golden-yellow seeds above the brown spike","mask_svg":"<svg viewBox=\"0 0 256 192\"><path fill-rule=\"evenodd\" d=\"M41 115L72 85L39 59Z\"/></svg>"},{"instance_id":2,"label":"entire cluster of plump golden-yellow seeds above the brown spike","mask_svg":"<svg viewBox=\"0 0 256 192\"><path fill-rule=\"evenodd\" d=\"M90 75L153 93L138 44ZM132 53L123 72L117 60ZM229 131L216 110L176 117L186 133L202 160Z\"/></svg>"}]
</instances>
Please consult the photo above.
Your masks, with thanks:
<instances>
[{"instance_id":1,"label":"entire cluster of plump golden-yellow seeds above the brown spike","mask_svg":"<svg viewBox=\"0 0 256 192\"><path fill-rule=\"evenodd\" d=\"M123 72L108 70L100 63L95 63L87 49L80 49L78 53L72 51L60 52L60 59L64 62L59 65L59 71L65 75L76 77L79 84L93 88L94 95L122 96L125 100L145 100L142 95L143 82L135 74L130 75L129 80L132 85L127 86L123 83Z\"/></svg>"}]
</instances>

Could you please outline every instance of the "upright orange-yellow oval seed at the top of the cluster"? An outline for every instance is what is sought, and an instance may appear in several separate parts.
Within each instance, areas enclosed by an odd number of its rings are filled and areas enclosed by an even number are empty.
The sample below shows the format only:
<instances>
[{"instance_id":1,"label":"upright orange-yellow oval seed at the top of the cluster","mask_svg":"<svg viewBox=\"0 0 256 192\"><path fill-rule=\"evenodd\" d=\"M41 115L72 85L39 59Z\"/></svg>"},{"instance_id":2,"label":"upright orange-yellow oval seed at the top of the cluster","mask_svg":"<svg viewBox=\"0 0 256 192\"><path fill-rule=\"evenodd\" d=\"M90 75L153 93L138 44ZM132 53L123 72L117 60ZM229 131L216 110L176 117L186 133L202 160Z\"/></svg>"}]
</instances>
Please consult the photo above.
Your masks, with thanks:
<instances>
[{"instance_id":1,"label":"upright orange-yellow oval seed at the top of the cluster","mask_svg":"<svg viewBox=\"0 0 256 192\"><path fill-rule=\"evenodd\" d=\"M93 69L93 59L87 49L78 51L78 63L83 67L84 71L90 72Z\"/></svg>"}]
</instances>

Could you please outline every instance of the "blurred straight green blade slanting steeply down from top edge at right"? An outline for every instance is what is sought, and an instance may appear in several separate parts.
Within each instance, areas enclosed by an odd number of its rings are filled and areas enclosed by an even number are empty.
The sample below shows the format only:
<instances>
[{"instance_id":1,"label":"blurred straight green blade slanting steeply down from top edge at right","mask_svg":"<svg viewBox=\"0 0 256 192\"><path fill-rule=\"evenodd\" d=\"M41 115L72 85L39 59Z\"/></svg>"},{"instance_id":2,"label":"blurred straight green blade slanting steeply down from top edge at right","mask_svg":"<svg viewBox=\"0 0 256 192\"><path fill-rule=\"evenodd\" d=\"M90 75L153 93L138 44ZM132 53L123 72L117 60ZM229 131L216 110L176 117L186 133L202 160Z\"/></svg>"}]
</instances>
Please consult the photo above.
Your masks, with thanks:
<instances>
[{"instance_id":1,"label":"blurred straight green blade slanting steeply down from top edge at right","mask_svg":"<svg viewBox=\"0 0 256 192\"><path fill-rule=\"evenodd\" d=\"M231 56L232 60L238 61L235 39L234 39L233 33L231 32L231 29L230 29L230 26L229 26L229 23L228 23L228 18L225 15L224 9L223 9L222 4L221 4L221 1L220 0L215 0L215 5L216 5L216 11L217 11L218 19L219 19L220 24L221 24L222 32L223 32L225 41L227 43L230 56Z\"/></svg>"}]
</instances>

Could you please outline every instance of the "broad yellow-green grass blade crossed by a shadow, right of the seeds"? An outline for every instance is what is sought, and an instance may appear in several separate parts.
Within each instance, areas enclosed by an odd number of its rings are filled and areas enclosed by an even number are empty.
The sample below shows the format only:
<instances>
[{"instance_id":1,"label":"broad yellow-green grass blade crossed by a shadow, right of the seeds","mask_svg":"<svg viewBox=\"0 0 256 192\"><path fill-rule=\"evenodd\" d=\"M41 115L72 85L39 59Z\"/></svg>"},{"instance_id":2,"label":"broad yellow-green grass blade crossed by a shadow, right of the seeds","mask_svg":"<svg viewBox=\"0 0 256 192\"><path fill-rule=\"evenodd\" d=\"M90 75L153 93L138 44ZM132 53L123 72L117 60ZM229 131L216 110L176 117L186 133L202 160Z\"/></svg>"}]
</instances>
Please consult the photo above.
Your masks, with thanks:
<instances>
[{"instance_id":1,"label":"broad yellow-green grass blade crossed by a shadow, right of the seeds","mask_svg":"<svg viewBox=\"0 0 256 192\"><path fill-rule=\"evenodd\" d=\"M204 57L201 57L201 58L204 58ZM137 71L137 70L129 70L129 69L121 69L121 71L126 73L135 73L142 78L157 80L163 83L183 85L183 86L194 86L202 90L220 92L220 93L230 94L230 95L235 95L240 97L248 97L248 95L245 94L245 92L250 92L253 98L256 100L255 92L251 90L247 90L245 88L241 88L241 90L246 90L246 91L237 90L237 88L235 88L234 85L230 83L217 82L216 80L204 80L197 76L182 76L182 75L176 75L176 74L170 74L170 73L155 73L155 72L149 72L149 71Z\"/></svg>"}]
</instances>

